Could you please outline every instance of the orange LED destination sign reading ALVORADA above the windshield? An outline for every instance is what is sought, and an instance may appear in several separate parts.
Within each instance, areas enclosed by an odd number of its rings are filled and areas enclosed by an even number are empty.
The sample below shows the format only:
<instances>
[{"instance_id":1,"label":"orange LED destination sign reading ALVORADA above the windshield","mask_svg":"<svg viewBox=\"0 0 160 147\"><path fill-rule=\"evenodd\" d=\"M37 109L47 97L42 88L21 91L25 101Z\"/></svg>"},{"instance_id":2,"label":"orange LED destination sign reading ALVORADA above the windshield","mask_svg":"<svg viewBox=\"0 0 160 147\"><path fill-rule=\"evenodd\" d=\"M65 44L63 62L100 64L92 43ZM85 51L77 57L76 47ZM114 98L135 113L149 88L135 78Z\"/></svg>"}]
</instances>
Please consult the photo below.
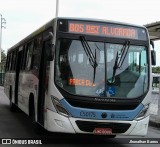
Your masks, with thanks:
<instances>
[{"instance_id":1,"label":"orange LED destination sign reading ALVORADA above the windshield","mask_svg":"<svg viewBox=\"0 0 160 147\"><path fill-rule=\"evenodd\" d=\"M104 37L146 40L145 29L118 24L69 21L68 32Z\"/></svg>"}]
</instances>

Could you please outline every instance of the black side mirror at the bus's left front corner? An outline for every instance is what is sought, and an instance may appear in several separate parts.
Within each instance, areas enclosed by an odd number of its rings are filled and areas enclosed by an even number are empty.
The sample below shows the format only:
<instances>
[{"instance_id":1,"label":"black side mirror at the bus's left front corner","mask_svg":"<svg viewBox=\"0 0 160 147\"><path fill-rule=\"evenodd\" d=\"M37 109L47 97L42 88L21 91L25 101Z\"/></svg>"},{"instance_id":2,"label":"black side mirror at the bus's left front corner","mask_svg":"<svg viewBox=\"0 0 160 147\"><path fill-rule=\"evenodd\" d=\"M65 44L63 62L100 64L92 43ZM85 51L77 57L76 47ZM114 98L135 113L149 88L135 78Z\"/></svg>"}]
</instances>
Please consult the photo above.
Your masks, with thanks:
<instances>
[{"instance_id":1,"label":"black side mirror at the bus's left front corner","mask_svg":"<svg viewBox=\"0 0 160 147\"><path fill-rule=\"evenodd\" d=\"M46 50L46 55L47 55L47 60L48 61L53 61L54 59L54 50L55 50L55 45L53 44L53 33L49 32L49 41L47 43L48 47Z\"/></svg>"}]
</instances>

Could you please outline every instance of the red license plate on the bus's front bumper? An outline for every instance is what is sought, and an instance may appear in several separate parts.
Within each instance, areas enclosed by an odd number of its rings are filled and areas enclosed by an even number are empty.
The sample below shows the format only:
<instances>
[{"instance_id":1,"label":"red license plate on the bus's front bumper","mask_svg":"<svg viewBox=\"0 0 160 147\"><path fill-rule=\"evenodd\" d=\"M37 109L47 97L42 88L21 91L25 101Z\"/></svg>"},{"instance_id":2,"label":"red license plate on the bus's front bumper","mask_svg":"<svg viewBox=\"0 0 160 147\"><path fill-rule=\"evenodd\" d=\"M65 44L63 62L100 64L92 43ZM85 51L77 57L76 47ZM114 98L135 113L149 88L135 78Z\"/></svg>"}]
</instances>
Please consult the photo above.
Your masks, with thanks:
<instances>
[{"instance_id":1,"label":"red license plate on the bus's front bumper","mask_svg":"<svg viewBox=\"0 0 160 147\"><path fill-rule=\"evenodd\" d=\"M93 133L97 135L111 135L112 129L111 128L95 128Z\"/></svg>"}]
</instances>

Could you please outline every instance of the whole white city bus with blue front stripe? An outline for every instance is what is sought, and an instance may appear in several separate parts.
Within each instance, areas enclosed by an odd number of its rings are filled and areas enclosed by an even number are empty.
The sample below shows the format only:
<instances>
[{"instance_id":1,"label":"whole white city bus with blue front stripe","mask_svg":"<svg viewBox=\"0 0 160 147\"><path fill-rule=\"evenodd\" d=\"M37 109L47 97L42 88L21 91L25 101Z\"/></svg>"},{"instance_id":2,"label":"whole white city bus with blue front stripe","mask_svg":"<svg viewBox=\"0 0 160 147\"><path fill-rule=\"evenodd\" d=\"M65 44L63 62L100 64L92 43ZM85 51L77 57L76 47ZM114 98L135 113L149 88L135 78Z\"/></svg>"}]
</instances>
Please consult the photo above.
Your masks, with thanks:
<instances>
[{"instance_id":1,"label":"whole white city bus with blue front stripe","mask_svg":"<svg viewBox=\"0 0 160 147\"><path fill-rule=\"evenodd\" d=\"M55 18L8 50L4 90L36 129L143 136L154 57L145 27Z\"/></svg>"}]
</instances>

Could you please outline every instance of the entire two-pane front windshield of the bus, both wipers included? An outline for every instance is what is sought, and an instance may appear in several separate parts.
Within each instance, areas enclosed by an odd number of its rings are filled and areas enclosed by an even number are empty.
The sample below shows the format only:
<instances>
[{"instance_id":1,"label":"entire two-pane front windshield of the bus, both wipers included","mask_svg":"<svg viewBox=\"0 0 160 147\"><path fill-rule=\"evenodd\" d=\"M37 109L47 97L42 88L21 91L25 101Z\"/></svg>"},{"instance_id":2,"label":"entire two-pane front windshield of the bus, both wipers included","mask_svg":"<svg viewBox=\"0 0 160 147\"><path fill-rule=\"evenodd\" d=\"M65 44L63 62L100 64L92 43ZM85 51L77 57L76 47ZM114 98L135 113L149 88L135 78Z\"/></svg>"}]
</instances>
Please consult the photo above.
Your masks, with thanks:
<instances>
[{"instance_id":1,"label":"entire two-pane front windshield of the bus, both wipers included","mask_svg":"<svg viewBox=\"0 0 160 147\"><path fill-rule=\"evenodd\" d=\"M136 98L148 89L147 61L145 46L61 38L55 83L73 95Z\"/></svg>"}]
</instances>

